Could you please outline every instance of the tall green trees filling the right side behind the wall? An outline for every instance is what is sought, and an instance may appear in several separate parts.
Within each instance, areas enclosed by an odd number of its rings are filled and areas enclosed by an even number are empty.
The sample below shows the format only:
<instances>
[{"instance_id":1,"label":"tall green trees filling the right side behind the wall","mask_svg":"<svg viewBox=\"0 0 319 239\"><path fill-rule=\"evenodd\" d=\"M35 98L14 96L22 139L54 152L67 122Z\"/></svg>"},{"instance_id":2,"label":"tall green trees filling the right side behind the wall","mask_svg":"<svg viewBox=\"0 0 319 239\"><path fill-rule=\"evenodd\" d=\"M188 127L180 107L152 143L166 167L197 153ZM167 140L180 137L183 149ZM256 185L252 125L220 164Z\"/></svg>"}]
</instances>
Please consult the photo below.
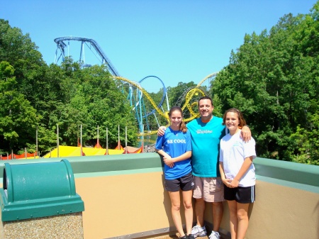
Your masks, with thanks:
<instances>
[{"instance_id":1,"label":"tall green trees filling the right side behind the wall","mask_svg":"<svg viewBox=\"0 0 319 239\"><path fill-rule=\"evenodd\" d=\"M318 6L245 35L212 84L215 113L240 109L260 157L318 164Z\"/></svg>"}]
</instances>

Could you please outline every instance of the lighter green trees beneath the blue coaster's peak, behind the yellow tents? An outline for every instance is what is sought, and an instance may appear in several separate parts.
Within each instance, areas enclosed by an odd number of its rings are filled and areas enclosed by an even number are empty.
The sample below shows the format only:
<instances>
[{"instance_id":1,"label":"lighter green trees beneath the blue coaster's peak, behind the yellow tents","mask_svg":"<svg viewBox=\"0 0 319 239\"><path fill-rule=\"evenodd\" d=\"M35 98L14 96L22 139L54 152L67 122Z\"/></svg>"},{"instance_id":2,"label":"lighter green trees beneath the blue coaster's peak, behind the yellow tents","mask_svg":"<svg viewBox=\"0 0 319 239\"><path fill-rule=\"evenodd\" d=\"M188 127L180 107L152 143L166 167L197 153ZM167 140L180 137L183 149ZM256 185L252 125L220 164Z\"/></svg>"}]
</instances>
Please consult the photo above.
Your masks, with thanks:
<instances>
[{"instance_id":1,"label":"lighter green trees beneath the blue coaster's peak, behind the yellow tents","mask_svg":"<svg viewBox=\"0 0 319 239\"><path fill-rule=\"evenodd\" d=\"M132 109L106 71L106 66L81 69L77 62L68 59L62 63L61 69L64 74L60 78L60 88L65 92L65 101L50 113L49 123L50 128L59 124L61 144L77 145L79 126L82 125L86 145L96 144L99 126L101 145L104 145L108 128L108 142L115 147L120 125L120 140L125 140L126 126L128 144L134 145L137 128Z\"/></svg>"}]
</instances>

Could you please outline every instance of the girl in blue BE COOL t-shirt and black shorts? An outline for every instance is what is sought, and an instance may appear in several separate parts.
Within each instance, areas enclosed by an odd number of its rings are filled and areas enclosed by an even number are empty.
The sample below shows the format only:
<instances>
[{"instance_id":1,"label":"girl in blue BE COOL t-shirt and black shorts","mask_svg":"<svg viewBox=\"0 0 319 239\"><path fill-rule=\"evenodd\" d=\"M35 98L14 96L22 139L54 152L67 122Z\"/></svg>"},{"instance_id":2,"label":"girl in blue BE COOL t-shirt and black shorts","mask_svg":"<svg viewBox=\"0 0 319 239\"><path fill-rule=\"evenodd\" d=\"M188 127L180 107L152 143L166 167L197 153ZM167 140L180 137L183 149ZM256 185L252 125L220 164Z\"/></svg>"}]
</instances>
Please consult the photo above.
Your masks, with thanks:
<instances>
[{"instance_id":1,"label":"girl in blue BE COOL t-shirt and black shorts","mask_svg":"<svg viewBox=\"0 0 319 239\"><path fill-rule=\"evenodd\" d=\"M193 206L191 197L194 179L191 174L191 134L183 121L183 113L179 106L169 111L171 125L164 135L157 137L156 152L164 161L164 187L169 192L172 202L172 217L181 239L194 238L191 235L193 223ZM183 195L185 209L186 234L181 224L179 190Z\"/></svg>"}]
</instances>

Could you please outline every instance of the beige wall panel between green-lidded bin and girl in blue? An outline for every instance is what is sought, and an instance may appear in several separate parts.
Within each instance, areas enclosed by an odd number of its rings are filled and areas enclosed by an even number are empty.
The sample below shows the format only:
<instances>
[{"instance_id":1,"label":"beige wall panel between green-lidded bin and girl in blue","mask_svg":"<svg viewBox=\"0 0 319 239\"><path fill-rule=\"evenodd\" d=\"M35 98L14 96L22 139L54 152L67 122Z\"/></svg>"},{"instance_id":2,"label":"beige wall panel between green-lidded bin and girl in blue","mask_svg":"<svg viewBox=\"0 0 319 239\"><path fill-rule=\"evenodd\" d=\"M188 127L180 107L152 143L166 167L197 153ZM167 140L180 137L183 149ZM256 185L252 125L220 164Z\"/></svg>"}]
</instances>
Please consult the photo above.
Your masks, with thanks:
<instances>
[{"instance_id":1,"label":"beige wall panel between green-lidded bin and girl in blue","mask_svg":"<svg viewBox=\"0 0 319 239\"><path fill-rule=\"evenodd\" d=\"M84 238L112 238L173 226L162 172L75 179L84 201Z\"/></svg>"}]
</instances>

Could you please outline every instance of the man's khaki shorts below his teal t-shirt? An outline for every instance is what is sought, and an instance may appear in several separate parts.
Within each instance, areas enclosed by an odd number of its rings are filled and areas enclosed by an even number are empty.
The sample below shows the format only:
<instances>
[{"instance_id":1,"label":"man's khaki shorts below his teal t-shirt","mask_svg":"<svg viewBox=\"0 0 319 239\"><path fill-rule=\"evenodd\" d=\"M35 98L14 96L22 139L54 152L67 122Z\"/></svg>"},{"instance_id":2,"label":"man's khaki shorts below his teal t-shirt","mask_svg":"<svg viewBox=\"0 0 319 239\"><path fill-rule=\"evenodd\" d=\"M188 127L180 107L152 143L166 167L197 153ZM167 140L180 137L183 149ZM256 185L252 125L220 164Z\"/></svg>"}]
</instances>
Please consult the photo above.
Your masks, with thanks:
<instances>
[{"instance_id":1,"label":"man's khaki shorts below his teal t-shirt","mask_svg":"<svg viewBox=\"0 0 319 239\"><path fill-rule=\"evenodd\" d=\"M225 201L224 185L220 177L194 176L194 199L204 199L207 202Z\"/></svg>"}]
</instances>

